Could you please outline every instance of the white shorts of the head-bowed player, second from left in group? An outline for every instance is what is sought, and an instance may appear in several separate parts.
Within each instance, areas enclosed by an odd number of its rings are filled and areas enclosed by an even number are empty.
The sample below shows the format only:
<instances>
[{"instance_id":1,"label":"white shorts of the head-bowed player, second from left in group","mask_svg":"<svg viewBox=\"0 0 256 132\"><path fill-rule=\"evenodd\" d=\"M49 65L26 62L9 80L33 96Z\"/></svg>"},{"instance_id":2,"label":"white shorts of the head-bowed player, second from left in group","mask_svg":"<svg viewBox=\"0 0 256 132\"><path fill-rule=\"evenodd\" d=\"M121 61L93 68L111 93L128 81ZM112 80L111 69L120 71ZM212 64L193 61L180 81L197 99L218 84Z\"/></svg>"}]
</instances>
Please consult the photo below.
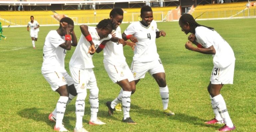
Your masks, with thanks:
<instances>
[{"instance_id":1,"label":"white shorts of the head-bowed player, second from left in group","mask_svg":"<svg viewBox=\"0 0 256 132\"><path fill-rule=\"evenodd\" d=\"M92 68L79 69L69 65L69 71L77 93L86 92L86 89L98 88Z\"/></svg>"}]
</instances>

